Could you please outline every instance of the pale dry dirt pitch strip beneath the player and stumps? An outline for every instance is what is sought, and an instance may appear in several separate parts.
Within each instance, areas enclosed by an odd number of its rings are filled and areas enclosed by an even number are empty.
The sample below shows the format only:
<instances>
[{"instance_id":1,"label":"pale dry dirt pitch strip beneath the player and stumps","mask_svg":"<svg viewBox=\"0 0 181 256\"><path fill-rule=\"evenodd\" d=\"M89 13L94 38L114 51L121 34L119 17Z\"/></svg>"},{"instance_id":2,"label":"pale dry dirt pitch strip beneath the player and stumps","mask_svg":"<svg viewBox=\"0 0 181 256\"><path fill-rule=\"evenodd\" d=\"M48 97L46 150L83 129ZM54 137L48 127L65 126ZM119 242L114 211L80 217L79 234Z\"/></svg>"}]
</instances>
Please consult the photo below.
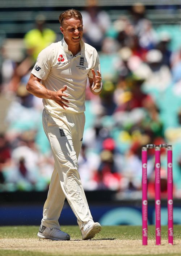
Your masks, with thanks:
<instances>
[{"instance_id":1,"label":"pale dry dirt pitch strip beneath the player and stumps","mask_svg":"<svg viewBox=\"0 0 181 256\"><path fill-rule=\"evenodd\" d=\"M57 256L96 256L96 255L164 255L181 253L180 241L175 241L175 245L168 245L166 240L162 245L156 246L155 241L149 241L149 245L142 246L141 240L112 240L112 239L92 239L92 240L70 240L51 241L38 239L0 239L0 249L44 252Z\"/></svg>"}]
</instances>

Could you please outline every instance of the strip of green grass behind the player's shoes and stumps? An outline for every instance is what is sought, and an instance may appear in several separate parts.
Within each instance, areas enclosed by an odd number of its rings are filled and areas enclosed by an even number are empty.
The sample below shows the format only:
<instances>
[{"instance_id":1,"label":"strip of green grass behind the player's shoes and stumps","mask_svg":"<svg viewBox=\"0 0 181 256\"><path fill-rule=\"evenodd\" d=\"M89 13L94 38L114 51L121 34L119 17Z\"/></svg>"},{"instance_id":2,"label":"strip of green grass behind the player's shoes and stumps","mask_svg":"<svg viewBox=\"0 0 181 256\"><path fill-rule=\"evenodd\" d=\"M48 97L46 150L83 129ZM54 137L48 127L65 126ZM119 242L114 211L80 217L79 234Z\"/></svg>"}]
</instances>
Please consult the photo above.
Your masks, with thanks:
<instances>
[{"instance_id":1,"label":"strip of green grass behind the player's shoes and stumps","mask_svg":"<svg viewBox=\"0 0 181 256\"><path fill-rule=\"evenodd\" d=\"M37 238L39 226L2 226L0 227L0 238ZM71 240L81 239L78 226L62 226L62 230L71 235ZM181 240L181 226L174 226L174 239ZM142 239L142 228L140 226L104 226L102 231L96 235L97 239ZM167 226L161 227L161 238L167 239ZM155 226L148 227L148 239L155 239Z\"/></svg>"}]
</instances>

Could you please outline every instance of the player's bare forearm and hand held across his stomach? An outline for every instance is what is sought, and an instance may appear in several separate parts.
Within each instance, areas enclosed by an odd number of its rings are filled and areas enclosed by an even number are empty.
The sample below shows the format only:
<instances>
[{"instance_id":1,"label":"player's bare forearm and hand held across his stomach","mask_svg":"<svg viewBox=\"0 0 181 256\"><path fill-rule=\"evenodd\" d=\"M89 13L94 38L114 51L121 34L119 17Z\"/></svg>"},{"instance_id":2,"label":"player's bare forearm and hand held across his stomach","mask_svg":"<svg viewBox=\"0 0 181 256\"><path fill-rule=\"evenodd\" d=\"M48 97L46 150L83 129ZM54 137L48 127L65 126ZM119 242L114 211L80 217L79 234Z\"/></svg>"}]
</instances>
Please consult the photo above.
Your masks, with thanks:
<instances>
[{"instance_id":1,"label":"player's bare forearm and hand held across his stomach","mask_svg":"<svg viewBox=\"0 0 181 256\"><path fill-rule=\"evenodd\" d=\"M45 86L43 86L40 78L31 74L26 85L26 89L29 93L33 94L38 98L54 100L57 104L63 107L64 110L66 110L65 107L68 107L66 103L69 103L69 100L62 98L68 97L68 95L64 93L64 91L67 90L66 85L64 85L63 88L61 88L58 91L51 91L48 90Z\"/></svg>"}]
</instances>

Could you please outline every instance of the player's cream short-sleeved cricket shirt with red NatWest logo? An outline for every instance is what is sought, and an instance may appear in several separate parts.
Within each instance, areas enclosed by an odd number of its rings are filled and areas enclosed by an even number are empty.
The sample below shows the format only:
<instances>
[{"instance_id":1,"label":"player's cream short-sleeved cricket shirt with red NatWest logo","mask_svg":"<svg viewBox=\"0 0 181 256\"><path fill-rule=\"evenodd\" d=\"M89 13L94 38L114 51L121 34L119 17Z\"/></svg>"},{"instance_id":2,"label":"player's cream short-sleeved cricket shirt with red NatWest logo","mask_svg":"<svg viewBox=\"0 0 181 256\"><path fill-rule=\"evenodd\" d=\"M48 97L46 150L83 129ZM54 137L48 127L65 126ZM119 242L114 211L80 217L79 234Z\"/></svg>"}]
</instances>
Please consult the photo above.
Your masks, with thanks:
<instances>
[{"instance_id":1,"label":"player's cream short-sleeved cricket shirt with red NatWest logo","mask_svg":"<svg viewBox=\"0 0 181 256\"><path fill-rule=\"evenodd\" d=\"M92 78L92 69L100 70L98 53L95 48L80 42L81 51L75 56L68 50L64 38L45 48L39 53L37 62L31 73L42 79L42 84L51 91L58 91L64 85L70 101L69 107L64 110L54 100L43 99L43 105L49 112L84 112L85 111L85 88L87 78Z\"/></svg>"}]
</instances>

